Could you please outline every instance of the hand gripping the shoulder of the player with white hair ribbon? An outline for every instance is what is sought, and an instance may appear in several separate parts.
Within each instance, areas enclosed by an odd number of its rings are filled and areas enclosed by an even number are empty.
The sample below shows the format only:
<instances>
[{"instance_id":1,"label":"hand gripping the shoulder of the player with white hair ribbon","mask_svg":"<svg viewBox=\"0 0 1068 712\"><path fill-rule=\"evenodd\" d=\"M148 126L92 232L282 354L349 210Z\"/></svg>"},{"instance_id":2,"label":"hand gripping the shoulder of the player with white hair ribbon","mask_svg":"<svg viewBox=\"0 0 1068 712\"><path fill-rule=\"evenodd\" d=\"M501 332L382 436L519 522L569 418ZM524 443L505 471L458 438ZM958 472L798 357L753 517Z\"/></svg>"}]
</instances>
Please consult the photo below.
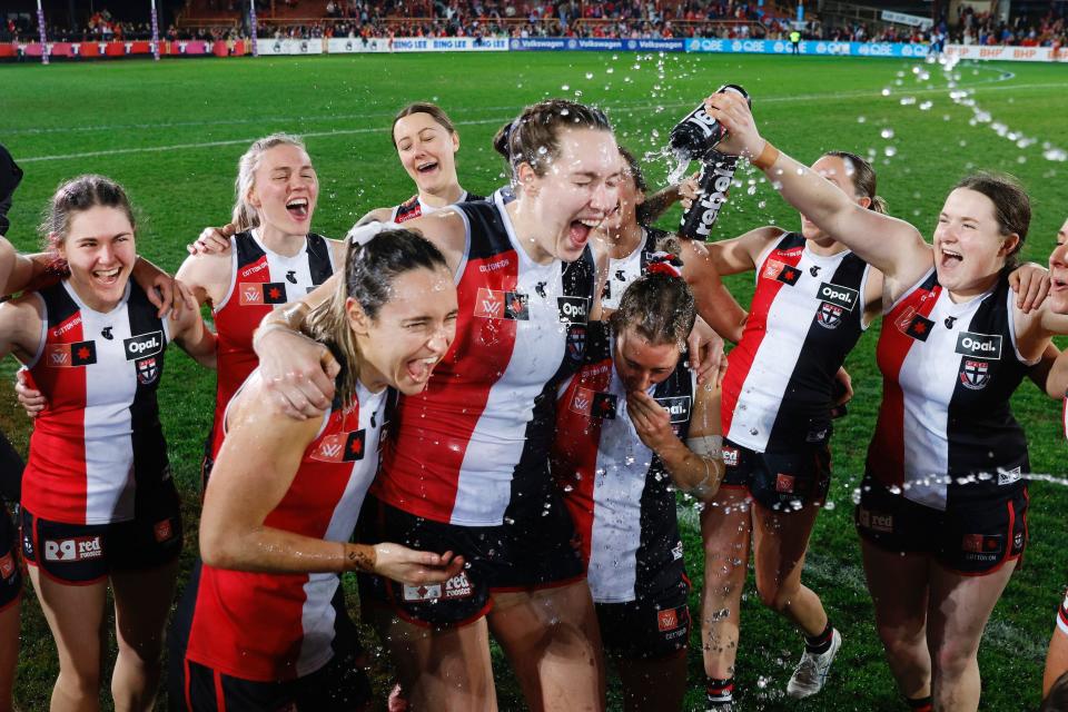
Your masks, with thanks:
<instances>
[{"instance_id":1,"label":"hand gripping the shoulder of the player with white hair ribbon","mask_svg":"<svg viewBox=\"0 0 1068 712\"><path fill-rule=\"evenodd\" d=\"M254 346L264 385L286 415L303 421L330 407L342 367L326 346L281 327L265 330Z\"/></svg>"}]
</instances>

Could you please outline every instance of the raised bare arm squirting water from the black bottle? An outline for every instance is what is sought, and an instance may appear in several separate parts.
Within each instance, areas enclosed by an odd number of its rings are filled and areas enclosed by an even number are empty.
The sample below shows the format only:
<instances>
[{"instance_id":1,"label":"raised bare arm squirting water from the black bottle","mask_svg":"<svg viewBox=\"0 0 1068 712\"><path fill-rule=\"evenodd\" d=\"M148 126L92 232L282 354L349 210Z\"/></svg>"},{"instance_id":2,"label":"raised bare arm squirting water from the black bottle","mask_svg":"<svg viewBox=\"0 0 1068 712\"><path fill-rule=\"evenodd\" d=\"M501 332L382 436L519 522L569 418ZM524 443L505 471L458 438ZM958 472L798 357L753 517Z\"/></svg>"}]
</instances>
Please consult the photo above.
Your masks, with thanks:
<instances>
[{"instance_id":1,"label":"raised bare arm squirting water from the black bottle","mask_svg":"<svg viewBox=\"0 0 1068 712\"><path fill-rule=\"evenodd\" d=\"M919 230L861 207L838 186L764 140L744 99L732 92L712 95L705 109L729 132L719 150L749 158L790 205L864 261L903 284L916 281L931 268L931 248Z\"/></svg>"}]
</instances>

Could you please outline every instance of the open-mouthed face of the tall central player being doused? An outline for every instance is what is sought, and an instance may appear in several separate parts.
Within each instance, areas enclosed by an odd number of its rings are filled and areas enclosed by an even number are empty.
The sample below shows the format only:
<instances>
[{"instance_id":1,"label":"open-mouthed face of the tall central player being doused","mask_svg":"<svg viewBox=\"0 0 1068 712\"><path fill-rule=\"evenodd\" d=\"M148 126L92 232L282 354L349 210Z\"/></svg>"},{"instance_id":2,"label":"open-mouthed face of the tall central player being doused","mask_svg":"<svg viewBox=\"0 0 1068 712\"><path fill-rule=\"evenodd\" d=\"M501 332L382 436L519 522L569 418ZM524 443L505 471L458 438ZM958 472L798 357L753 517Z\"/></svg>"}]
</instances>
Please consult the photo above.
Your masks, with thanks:
<instances>
[{"instance_id":1,"label":"open-mouthed face of the tall central player being doused","mask_svg":"<svg viewBox=\"0 0 1068 712\"><path fill-rule=\"evenodd\" d=\"M534 217L535 250L571 263L582 257L590 231L616 207L620 149L611 131L597 129L563 128L557 139L560 152L543 175L520 164L518 199Z\"/></svg>"}]
</instances>

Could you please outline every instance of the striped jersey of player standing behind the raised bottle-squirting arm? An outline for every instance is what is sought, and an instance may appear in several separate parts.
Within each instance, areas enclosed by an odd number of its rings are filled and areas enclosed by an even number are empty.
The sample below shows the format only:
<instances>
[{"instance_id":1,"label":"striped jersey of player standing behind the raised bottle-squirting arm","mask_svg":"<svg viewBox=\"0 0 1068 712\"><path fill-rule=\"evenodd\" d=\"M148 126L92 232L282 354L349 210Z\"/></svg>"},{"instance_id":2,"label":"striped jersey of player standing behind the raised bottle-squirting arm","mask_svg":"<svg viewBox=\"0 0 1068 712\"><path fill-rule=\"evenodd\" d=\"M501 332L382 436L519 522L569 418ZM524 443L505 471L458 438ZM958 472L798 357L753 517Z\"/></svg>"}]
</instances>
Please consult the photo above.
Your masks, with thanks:
<instances>
[{"instance_id":1,"label":"striped jersey of player standing behind the raised bottle-squirting arm","mask_svg":"<svg viewBox=\"0 0 1068 712\"><path fill-rule=\"evenodd\" d=\"M867 328L868 264L805 243L784 235L758 261L749 319L728 358L724 437L758 453L830 436L834 374Z\"/></svg>"}]
</instances>

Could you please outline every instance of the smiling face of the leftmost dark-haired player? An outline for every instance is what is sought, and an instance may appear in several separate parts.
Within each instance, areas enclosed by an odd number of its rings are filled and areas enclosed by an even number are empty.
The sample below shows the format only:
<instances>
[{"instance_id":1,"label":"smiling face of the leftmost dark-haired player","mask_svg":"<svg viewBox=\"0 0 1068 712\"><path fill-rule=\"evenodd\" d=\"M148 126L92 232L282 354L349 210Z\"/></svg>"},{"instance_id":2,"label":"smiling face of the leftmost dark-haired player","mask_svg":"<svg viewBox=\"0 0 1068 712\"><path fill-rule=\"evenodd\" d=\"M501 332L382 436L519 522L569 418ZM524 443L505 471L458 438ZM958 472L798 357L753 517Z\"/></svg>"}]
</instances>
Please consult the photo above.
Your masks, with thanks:
<instances>
[{"instance_id":1,"label":"smiling face of the leftmost dark-haired player","mask_svg":"<svg viewBox=\"0 0 1068 712\"><path fill-rule=\"evenodd\" d=\"M70 284L89 308L109 312L121 301L137 261L134 226L118 208L93 206L70 218L59 256L70 267Z\"/></svg>"}]
</instances>

